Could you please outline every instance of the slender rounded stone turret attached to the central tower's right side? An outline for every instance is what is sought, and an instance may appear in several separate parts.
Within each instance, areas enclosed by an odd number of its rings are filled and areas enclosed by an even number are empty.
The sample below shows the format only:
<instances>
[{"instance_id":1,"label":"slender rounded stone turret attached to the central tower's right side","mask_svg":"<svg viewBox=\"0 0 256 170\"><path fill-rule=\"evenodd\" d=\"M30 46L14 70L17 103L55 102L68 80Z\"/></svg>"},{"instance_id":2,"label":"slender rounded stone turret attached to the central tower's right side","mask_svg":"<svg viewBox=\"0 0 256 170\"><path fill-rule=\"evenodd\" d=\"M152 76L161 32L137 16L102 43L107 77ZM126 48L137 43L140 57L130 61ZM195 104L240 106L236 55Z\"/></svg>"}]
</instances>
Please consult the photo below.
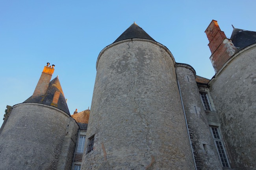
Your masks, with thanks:
<instances>
[{"instance_id":1,"label":"slender rounded stone turret attached to the central tower's right side","mask_svg":"<svg viewBox=\"0 0 256 170\"><path fill-rule=\"evenodd\" d=\"M222 170L206 113L202 106L197 82L195 81L195 72L186 64L177 64L176 73L180 84L197 170Z\"/></svg>"}]
</instances>

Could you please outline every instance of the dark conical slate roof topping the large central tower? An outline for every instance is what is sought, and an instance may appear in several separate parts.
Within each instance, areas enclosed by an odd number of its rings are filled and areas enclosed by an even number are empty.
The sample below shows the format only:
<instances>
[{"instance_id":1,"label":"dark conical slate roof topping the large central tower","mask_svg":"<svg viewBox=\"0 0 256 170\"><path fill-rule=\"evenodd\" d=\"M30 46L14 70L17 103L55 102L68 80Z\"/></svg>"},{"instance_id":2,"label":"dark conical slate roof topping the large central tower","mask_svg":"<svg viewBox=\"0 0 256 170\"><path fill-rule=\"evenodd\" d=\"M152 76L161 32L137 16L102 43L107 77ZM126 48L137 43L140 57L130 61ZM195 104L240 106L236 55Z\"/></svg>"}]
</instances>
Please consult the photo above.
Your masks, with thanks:
<instances>
[{"instance_id":1,"label":"dark conical slate roof topping the large central tower","mask_svg":"<svg viewBox=\"0 0 256 170\"><path fill-rule=\"evenodd\" d=\"M148 40L153 40L155 41L152 37L150 37L141 27L139 27L135 22L132 24L128 29L124 31L120 35L120 37L115 40L115 42L126 40L126 39L131 39L131 38L143 38L143 39L148 39ZM115 43L114 42L114 43Z\"/></svg>"}]
</instances>

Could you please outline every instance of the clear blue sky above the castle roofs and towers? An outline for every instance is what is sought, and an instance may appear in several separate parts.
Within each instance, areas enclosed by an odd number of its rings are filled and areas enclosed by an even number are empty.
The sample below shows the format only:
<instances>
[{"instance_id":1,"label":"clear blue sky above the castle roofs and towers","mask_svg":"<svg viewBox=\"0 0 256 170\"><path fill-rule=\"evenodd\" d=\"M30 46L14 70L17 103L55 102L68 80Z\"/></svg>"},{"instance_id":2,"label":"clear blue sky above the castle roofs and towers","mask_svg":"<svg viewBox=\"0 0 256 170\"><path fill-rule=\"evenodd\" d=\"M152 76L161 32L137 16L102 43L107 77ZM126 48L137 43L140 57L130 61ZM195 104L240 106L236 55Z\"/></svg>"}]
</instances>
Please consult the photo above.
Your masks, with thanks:
<instances>
[{"instance_id":1,"label":"clear blue sky above the castle roofs and towers","mask_svg":"<svg viewBox=\"0 0 256 170\"><path fill-rule=\"evenodd\" d=\"M255 0L1 0L0 124L6 105L33 94L46 62L55 64L70 113L91 107L100 51L134 21L197 75L214 75L204 33L217 20L227 37L256 31Z\"/></svg>"}]
</instances>

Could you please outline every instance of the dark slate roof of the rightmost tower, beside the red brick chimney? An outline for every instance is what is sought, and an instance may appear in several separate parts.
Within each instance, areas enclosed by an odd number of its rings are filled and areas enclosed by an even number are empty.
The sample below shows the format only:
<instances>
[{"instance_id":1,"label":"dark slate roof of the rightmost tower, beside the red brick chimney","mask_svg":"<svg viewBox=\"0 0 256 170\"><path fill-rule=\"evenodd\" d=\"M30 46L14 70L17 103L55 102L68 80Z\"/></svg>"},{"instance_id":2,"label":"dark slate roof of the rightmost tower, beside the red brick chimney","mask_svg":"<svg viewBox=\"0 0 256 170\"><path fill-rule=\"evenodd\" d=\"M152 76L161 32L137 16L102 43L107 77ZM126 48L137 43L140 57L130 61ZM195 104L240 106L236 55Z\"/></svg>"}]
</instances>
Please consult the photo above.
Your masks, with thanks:
<instances>
[{"instance_id":1,"label":"dark slate roof of the rightmost tower, beside the red brick chimney","mask_svg":"<svg viewBox=\"0 0 256 170\"><path fill-rule=\"evenodd\" d=\"M231 38L238 51L256 43L256 32L234 28Z\"/></svg>"}]
</instances>

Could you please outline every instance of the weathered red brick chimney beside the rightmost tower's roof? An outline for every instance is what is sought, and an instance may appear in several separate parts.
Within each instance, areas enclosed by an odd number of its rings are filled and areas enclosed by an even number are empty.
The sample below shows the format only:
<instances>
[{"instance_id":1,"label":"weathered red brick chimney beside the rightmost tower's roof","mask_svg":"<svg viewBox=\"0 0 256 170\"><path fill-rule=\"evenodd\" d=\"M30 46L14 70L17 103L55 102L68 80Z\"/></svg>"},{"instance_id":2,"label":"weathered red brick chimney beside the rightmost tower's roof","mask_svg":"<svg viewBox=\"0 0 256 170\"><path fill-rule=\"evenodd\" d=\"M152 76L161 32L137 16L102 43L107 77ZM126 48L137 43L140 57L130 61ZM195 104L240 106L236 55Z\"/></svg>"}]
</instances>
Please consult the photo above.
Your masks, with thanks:
<instances>
[{"instance_id":1,"label":"weathered red brick chimney beside the rightmost tower's roof","mask_svg":"<svg viewBox=\"0 0 256 170\"><path fill-rule=\"evenodd\" d=\"M217 73L228 59L234 55L236 47L232 43L232 40L228 39L224 32L221 31L215 20L211 21L205 33L210 42L208 46L211 50L211 64L215 73Z\"/></svg>"}]
</instances>

